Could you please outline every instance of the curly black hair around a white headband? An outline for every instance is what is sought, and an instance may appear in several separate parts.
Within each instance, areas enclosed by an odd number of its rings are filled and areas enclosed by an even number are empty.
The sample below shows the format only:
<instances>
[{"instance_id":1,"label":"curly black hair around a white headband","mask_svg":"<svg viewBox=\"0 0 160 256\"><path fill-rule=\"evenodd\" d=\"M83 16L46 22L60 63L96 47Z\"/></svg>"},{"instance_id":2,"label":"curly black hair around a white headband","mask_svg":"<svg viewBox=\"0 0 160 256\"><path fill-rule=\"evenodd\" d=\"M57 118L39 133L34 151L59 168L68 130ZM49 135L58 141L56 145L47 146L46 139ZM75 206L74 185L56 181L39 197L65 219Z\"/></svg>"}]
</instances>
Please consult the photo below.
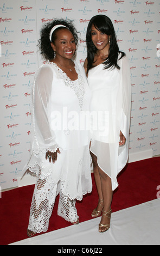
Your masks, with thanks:
<instances>
[{"instance_id":1,"label":"curly black hair around a white headband","mask_svg":"<svg viewBox=\"0 0 160 256\"><path fill-rule=\"evenodd\" d=\"M50 45L50 39L49 39L49 33L51 29L55 25L64 25L67 28L69 28L69 31L73 34L75 44L78 44L78 33L76 32L76 29L73 25L73 23L70 20L63 20L63 19L54 19L51 22L47 22L44 24L40 31L40 39L39 39L39 48L40 48L40 53L42 54L43 58L46 60L52 60L53 59L53 48ZM62 29L63 27L57 28L53 34L52 34L52 42L56 39L56 32ZM66 29L67 29L66 28Z\"/></svg>"}]
</instances>

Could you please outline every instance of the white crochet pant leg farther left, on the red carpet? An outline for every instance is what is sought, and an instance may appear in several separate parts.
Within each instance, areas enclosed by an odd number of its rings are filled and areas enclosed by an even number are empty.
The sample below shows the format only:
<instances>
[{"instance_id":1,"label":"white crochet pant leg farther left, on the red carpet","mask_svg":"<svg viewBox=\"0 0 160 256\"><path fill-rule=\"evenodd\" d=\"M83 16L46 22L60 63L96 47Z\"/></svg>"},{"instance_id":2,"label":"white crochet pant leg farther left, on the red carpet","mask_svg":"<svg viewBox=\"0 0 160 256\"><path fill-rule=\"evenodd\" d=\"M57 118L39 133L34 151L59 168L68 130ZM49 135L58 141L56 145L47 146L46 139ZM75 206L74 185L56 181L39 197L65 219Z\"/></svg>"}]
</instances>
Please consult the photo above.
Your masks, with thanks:
<instances>
[{"instance_id":1,"label":"white crochet pant leg farther left, on the red carpet","mask_svg":"<svg viewBox=\"0 0 160 256\"><path fill-rule=\"evenodd\" d=\"M46 232L55 203L57 184L38 179L30 207L28 229L34 233Z\"/></svg>"}]
</instances>

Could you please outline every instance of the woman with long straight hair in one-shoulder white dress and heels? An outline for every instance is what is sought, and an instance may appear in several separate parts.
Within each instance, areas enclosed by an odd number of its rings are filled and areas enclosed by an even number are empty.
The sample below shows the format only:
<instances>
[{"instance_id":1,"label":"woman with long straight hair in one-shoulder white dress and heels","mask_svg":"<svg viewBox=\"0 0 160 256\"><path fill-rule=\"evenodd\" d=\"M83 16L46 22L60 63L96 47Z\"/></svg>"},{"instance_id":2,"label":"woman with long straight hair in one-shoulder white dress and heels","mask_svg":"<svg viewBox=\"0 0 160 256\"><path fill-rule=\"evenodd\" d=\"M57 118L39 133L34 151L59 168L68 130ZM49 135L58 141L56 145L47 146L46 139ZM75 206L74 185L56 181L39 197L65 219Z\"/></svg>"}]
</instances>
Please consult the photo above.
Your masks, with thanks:
<instances>
[{"instance_id":1,"label":"woman with long straight hair in one-shoulder white dress and heels","mask_svg":"<svg viewBox=\"0 0 160 256\"><path fill-rule=\"evenodd\" d=\"M87 59L85 69L92 91L91 112L101 112L99 129L92 130L91 156L98 205L92 217L101 216L99 232L110 228L113 190L117 175L125 166L129 149L131 109L130 66L124 52L119 51L110 18L92 17L87 27ZM94 124L95 121L92 120Z\"/></svg>"}]
</instances>

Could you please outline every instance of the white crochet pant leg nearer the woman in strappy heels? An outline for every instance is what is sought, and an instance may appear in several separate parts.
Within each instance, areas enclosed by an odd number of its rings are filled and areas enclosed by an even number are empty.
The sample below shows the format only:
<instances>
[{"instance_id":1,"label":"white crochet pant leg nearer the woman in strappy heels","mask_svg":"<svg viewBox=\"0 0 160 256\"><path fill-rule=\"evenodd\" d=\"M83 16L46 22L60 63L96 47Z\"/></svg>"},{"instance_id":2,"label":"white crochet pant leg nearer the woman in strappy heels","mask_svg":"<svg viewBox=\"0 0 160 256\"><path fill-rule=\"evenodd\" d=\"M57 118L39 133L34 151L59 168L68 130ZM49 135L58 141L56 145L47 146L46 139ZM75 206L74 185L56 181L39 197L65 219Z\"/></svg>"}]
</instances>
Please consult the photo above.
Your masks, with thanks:
<instances>
[{"instance_id":1,"label":"white crochet pant leg nearer the woman in strappy heels","mask_svg":"<svg viewBox=\"0 0 160 256\"><path fill-rule=\"evenodd\" d=\"M69 199L60 190L60 199L59 199L57 214L65 218L66 221L76 222L79 216L77 215L75 203L76 203L76 199L74 200Z\"/></svg>"}]
</instances>

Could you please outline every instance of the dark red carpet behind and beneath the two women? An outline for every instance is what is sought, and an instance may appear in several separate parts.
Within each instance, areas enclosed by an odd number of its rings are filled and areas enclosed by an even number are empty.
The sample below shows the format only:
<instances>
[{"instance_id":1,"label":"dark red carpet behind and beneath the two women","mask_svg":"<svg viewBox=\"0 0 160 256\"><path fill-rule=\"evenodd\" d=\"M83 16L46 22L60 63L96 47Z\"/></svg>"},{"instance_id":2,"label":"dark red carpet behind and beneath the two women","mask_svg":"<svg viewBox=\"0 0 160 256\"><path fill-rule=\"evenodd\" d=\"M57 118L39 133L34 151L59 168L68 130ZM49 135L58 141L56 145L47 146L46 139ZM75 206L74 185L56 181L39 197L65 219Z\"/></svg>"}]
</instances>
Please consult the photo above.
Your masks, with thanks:
<instances>
[{"instance_id":1,"label":"dark red carpet behind and beneath the two women","mask_svg":"<svg viewBox=\"0 0 160 256\"><path fill-rule=\"evenodd\" d=\"M129 163L118 176L119 186L113 194L112 211L129 208L157 198L157 186L160 185L160 157ZM92 210L97 206L98 197L95 189L76 203L80 222L90 220ZM1 245L28 238L27 226L34 185L2 192L0 199ZM49 231L67 227L69 222L57 216L58 197L49 222Z\"/></svg>"}]
</instances>

